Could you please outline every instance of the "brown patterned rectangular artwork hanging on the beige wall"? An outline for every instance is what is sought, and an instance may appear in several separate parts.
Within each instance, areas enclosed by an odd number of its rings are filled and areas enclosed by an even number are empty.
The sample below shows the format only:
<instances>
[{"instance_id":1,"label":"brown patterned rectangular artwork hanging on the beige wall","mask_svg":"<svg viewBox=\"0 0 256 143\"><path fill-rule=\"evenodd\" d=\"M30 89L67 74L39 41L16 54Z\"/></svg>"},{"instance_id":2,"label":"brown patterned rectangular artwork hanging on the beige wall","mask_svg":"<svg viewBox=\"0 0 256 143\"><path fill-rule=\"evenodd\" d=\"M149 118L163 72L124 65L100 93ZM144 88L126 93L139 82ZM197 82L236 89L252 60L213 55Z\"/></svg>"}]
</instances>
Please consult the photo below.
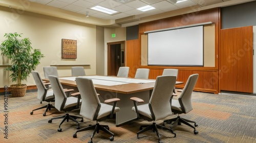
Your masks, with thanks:
<instances>
[{"instance_id":1,"label":"brown patterned rectangular artwork hanging on the beige wall","mask_svg":"<svg viewBox=\"0 0 256 143\"><path fill-rule=\"evenodd\" d=\"M61 39L61 58L76 59L76 40Z\"/></svg>"}]
</instances>

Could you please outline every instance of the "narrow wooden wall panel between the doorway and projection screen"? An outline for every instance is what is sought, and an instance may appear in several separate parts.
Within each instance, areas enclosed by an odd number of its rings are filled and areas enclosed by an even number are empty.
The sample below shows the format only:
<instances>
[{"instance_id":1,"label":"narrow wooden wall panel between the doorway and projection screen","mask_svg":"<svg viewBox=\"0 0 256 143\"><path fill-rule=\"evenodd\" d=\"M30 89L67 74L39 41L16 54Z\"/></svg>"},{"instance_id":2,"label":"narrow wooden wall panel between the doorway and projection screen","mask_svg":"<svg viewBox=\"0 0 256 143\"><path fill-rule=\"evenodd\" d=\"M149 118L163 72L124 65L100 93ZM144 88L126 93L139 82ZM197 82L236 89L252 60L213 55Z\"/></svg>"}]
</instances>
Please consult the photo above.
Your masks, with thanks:
<instances>
[{"instance_id":1,"label":"narrow wooden wall panel between the doorway and projection screen","mask_svg":"<svg viewBox=\"0 0 256 143\"><path fill-rule=\"evenodd\" d=\"M130 67L129 77L134 78L137 68L140 65L139 40L126 41L126 66Z\"/></svg>"}]
</instances>

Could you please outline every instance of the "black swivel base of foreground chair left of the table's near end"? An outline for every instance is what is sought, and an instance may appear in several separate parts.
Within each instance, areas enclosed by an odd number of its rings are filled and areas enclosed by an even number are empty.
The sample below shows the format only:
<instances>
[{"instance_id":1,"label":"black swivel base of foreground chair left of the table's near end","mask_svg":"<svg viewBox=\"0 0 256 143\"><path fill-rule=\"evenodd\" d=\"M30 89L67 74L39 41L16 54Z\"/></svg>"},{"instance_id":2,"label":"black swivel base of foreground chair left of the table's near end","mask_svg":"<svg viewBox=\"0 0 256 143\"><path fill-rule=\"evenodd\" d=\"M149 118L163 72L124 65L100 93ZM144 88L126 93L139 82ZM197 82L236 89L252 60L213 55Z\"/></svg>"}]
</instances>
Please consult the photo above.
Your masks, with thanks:
<instances>
[{"instance_id":1,"label":"black swivel base of foreground chair left of the table's near end","mask_svg":"<svg viewBox=\"0 0 256 143\"><path fill-rule=\"evenodd\" d=\"M73 134L73 137L74 137L74 138L77 137L77 135L76 135L77 132L87 131L87 130L94 130L94 131L93 131L93 134L92 134L92 136L91 136L91 140L88 141L89 143L93 143L93 136L95 135L96 132L99 133L99 130L104 131L104 132L106 132L106 133L112 135L112 136L110 137L110 141L113 141L113 140L114 140L114 134L113 134L111 131L109 131L109 130L110 130L109 126L106 126L106 125L99 125L99 123L97 123L96 125L93 125L93 126L92 126L92 125L89 125L89 126L86 127L86 128L82 128L82 129L80 129L80 130L77 130L77 131Z\"/></svg>"}]
</instances>

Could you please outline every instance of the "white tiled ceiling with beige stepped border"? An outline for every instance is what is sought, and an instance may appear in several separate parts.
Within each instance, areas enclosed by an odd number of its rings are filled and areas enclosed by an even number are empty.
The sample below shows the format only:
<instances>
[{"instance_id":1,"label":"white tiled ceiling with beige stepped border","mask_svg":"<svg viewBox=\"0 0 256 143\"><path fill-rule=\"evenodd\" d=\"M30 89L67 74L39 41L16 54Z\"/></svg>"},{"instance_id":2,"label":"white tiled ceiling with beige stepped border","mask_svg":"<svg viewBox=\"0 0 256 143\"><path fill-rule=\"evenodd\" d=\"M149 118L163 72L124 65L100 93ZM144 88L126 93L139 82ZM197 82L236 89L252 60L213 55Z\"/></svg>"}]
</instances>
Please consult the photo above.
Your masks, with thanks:
<instances>
[{"instance_id":1,"label":"white tiled ceiling with beige stepped border","mask_svg":"<svg viewBox=\"0 0 256 143\"><path fill-rule=\"evenodd\" d=\"M29 0L34 9L29 7L26 10L71 20L77 19L94 25L127 27L148 20L250 2L250 0L188 0L175 4L173 1L175 0ZM1 3L9 7L18 5L14 0L0 0L0 5ZM97 5L118 12L110 15L90 9ZM146 5L156 9L146 12L137 10ZM66 11L70 13L65 15ZM76 14L79 16L75 16ZM89 17L86 17L87 14Z\"/></svg>"}]
</instances>

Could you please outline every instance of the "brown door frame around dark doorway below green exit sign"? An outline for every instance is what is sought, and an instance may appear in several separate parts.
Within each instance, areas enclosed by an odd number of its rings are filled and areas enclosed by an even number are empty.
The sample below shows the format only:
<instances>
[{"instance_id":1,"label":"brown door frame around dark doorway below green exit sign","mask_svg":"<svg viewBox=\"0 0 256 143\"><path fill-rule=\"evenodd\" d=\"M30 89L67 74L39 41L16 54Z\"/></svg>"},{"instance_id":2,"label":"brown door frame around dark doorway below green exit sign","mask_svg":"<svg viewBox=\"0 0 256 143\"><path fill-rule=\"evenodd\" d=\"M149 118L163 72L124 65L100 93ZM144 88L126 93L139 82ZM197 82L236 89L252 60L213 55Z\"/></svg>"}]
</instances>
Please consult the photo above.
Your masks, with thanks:
<instances>
[{"instance_id":1,"label":"brown door frame around dark doorway below green exit sign","mask_svg":"<svg viewBox=\"0 0 256 143\"><path fill-rule=\"evenodd\" d=\"M117 41L117 42L108 42L106 43L108 45L108 67L107 67L107 75L109 76L109 73L111 73L111 68L110 68L110 58L111 58L111 48L110 48L110 45L113 45L113 44L121 44L123 45L123 52L124 52L124 57L123 57L123 65L125 66L125 41Z\"/></svg>"}]
</instances>

